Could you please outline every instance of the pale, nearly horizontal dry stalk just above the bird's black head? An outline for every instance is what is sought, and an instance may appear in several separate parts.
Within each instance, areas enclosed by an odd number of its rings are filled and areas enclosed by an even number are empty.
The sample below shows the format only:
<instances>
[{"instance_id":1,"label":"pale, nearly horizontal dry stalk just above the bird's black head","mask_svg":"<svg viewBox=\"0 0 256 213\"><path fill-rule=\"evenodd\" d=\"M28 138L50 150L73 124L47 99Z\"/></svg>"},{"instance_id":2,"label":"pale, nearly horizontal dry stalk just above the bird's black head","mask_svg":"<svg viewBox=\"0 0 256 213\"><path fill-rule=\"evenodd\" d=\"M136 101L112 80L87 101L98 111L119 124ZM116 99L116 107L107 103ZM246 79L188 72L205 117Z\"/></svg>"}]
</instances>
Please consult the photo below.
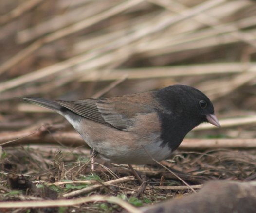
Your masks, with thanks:
<instances>
[{"instance_id":1,"label":"pale, nearly horizontal dry stalk just above the bird's black head","mask_svg":"<svg viewBox=\"0 0 256 213\"><path fill-rule=\"evenodd\" d=\"M250 69L244 70L243 63L215 63L189 66L165 66L165 67L146 67L133 69L115 69L110 73L102 73L101 70L94 70L91 74L83 76L79 81L113 81L127 75L127 79L146 79L146 78L166 78L184 76L207 76L218 74L237 74L256 72L256 64L251 63ZM100 78L99 78L100 76ZM216 85L214 85L216 88ZM209 89L203 88L202 90Z\"/></svg>"}]
</instances>

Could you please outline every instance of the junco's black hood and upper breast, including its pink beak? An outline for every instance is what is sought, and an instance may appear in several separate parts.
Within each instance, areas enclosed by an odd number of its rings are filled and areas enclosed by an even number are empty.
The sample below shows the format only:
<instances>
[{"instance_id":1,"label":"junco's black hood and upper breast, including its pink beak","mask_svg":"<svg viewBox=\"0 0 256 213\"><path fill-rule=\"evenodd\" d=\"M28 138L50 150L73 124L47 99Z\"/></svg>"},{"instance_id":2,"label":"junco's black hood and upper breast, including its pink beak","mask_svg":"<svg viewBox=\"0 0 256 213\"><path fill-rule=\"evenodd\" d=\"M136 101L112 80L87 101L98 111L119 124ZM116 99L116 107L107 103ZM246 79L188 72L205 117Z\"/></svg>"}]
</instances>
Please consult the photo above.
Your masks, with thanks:
<instances>
[{"instance_id":1,"label":"junco's black hood and upper breast, including its pink beak","mask_svg":"<svg viewBox=\"0 0 256 213\"><path fill-rule=\"evenodd\" d=\"M168 144L175 150L185 135L203 122L220 127L214 115L212 102L198 89L186 85L173 85L156 92L161 108L158 115L161 120L163 145ZM169 143L170 138L175 143Z\"/></svg>"}]
</instances>

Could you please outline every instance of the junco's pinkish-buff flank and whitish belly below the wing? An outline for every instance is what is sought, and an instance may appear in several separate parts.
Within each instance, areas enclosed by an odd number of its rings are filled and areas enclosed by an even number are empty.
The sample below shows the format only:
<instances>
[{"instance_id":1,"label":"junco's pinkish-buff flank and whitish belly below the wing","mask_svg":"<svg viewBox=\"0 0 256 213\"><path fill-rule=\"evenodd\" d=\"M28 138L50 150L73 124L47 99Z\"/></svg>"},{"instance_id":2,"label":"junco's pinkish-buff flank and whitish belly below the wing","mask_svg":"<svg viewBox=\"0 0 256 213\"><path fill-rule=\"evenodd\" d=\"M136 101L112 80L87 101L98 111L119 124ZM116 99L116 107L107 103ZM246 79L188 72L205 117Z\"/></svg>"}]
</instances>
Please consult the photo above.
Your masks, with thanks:
<instances>
[{"instance_id":1,"label":"junco's pinkish-buff flank and whitish belly below the wing","mask_svg":"<svg viewBox=\"0 0 256 213\"><path fill-rule=\"evenodd\" d=\"M160 126L155 115L151 115L151 119L150 116L140 115L136 125L127 131L81 116L65 115L65 118L101 158L112 163L151 164L154 160L166 159L172 151L168 145L163 146Z\"/></svg>"}]
</instances>

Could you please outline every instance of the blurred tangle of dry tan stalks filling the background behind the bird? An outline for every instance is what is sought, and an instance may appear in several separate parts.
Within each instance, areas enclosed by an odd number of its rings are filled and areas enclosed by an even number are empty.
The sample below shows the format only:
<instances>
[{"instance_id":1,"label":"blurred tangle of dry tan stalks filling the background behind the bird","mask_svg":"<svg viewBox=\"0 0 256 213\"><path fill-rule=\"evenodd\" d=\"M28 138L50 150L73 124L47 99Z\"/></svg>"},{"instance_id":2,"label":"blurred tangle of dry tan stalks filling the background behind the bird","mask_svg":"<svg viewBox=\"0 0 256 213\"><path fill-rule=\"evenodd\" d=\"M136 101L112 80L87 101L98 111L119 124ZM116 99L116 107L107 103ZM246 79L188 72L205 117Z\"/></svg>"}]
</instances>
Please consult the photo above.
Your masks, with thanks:
<instances>
[{"instance_id":1,"label":"blurred tangle of dry tan stalks filling the background behind the bird","mask_svg":"<svg viewBox=\"0 0 256 213\"><path fill-rule=\"evenodd\" d=\"M253 0L1 0L1 131L48 119L14 97L74 100L187 84L212 100L220 120L232 118L215 136L253 138L255 14Z\"/></svg>"}]
</instances>

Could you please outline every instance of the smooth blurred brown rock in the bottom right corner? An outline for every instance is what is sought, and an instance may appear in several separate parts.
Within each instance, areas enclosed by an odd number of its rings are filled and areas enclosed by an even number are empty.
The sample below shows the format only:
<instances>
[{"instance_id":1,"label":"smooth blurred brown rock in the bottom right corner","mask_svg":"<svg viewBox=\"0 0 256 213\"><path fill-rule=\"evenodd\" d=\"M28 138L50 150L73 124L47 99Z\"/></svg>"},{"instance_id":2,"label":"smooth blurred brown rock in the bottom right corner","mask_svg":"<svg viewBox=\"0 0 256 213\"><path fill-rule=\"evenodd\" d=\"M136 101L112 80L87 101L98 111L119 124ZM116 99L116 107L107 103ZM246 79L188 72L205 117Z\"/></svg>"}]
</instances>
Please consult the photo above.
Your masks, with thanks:
<instances>
[{"instance_id":1,"label":"smooth blurred brown rock in the bottom right corner","mask_svg":"<svg viewBox=\"0 0 256 213\"><path fill-rule=\"evenodd\" d=\"M210 181L196 194L142 210L144 213L256 213L256 181Z\"/></svg>"}]
</instances>

